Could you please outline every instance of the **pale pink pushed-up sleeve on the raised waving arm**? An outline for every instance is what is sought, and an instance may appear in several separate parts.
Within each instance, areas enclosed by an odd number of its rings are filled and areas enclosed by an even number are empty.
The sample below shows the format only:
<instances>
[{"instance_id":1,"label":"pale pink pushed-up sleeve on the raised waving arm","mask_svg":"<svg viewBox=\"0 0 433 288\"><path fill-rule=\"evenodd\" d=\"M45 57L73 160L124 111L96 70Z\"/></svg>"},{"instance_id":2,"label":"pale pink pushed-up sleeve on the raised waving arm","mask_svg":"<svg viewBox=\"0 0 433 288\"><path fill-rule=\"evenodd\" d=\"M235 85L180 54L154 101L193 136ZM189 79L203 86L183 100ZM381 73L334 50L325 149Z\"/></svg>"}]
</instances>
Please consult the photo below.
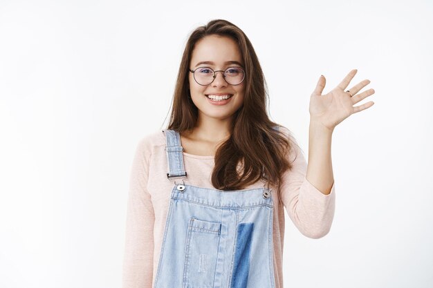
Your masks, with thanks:
<instances>
[{"instance_id":1,"label":"pale pink pushed-up sleeve on the raised waving arm","mask_svg":"<svg viewBox=\"0 0 433 288\"><path fill-rule=\"evenodd\" d=\"M287 128L280 131L290 140L293 149L288 155L293 169L282 177L279 195L295 227L308 238L322 238L331 229L335 213L335 181L328 195L306 180L307 163L295 137Z\"/></svg>"}]
</instances>

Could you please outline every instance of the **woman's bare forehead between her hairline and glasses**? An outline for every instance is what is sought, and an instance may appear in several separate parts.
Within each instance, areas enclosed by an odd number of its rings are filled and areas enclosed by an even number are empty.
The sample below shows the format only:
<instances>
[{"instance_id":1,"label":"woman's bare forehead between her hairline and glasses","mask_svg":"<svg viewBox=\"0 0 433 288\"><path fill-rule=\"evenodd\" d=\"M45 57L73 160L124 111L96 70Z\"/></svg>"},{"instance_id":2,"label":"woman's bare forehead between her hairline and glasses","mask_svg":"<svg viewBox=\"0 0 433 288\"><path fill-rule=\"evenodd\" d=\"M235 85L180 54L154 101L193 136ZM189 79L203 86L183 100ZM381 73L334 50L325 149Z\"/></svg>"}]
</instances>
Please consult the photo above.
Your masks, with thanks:
<instances>
[{"instance_id":1,"label":"woman's bare forehead between her hairline and glasses","mask_svg":"<svg viewBox=\"0 0 433 288\"><path fill-rule=\"evenodd\" d=\"M230 37L219 35L209 35L197 41L192 51L191 65L195 67L202 61L214 63L207 66L223 66L228 61L243 64L237 43Z\"/></svg>"}]
</instances>

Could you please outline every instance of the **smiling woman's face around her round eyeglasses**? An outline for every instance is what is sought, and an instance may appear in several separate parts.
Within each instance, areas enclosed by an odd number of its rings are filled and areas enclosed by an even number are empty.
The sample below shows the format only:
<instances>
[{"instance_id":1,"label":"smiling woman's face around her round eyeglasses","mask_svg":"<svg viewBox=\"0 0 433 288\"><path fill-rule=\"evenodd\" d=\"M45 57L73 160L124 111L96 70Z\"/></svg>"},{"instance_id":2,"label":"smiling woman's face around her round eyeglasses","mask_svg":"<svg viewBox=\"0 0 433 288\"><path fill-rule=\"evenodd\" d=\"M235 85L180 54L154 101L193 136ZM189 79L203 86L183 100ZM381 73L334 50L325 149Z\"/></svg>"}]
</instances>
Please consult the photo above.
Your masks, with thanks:
<instances>
[{"instance_id":1,"label":"smiling woman's face around her round eyeglasses","mask_svg":"<svg viewBox=\"0 0 433 288\"><path fill-rule=\"evenodd\" d=\"M208 63L201 63L206 61ZM236 61L238 63L230 63ZM236 42L225 36L209 35L196 42L190 63L191 70L209 67L213 70L225 70L229 67L243 68L241 52ZM212 71L205 70L207 73ZM245 79L238 85L230 85L223 78L223 72L216 72L214 81L201 86L194 80L194 73L189 73L192 102L199 108L199 117L227 119L242 106L245 93ZM216 102L208 95L232 95L229 99Z\"/></svg>"}]
</instances>

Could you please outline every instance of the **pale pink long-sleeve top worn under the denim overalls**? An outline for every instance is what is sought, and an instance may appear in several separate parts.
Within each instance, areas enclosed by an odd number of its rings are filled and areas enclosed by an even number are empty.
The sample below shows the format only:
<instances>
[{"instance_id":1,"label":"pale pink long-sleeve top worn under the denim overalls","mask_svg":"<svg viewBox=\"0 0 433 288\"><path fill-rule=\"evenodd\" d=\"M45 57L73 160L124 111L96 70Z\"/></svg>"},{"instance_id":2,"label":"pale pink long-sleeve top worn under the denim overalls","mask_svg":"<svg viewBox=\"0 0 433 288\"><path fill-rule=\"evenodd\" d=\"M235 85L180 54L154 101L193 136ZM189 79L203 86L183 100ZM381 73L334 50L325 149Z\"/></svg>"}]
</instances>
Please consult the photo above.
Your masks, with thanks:
<instances>
[{"instance_id":1,"label":"pale pink long-sleeve top worn under the denim overalls","mask_svg":"<svg viewBox=\"0 0 433 288\"><path fill-rule=\"evenodd\" d=\"M279 187L273 191L273 265L275 285L283 288L282 256L284 244L284 209L295 227L308 238L321 238L331 229L335 211L335 183L331 193L323 194L306 180L306 160L291 131L280 126L279 131L289 137L293 150L288 159L293 169L282 177ZM213 156L183 153L187 180L185 184L214 189L211 182L214 167ZM170 193L174 183L167 179L165 135L162 131L143 137L136 148L131 168L122 288L152 288L165 220L169 208ZM263 187L258 181L245 189Z\"/></svg>"}]
</instances>

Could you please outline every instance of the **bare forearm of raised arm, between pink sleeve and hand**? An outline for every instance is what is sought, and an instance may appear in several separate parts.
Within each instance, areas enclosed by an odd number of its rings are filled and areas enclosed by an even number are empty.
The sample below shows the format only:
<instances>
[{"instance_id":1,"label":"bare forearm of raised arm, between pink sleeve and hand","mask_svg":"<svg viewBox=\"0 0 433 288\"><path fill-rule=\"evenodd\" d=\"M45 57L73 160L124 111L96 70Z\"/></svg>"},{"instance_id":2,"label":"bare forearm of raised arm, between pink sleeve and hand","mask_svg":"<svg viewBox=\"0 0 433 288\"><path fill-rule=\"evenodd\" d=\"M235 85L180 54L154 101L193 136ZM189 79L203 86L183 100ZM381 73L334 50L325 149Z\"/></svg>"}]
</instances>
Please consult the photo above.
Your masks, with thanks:
<instances>
[{"instance_id":1,"label":"bare forearm of raised arm, between pink sleeve and hand","mask_svg":"<svg viewBox=\"0 0 433 288\"><path fill-rule=\"evenodd\" d=\"M334 182L331 160L332 133L329 128L313 119L310 121L306 180L325 195L331 193Z\"/></svg>"}]
</instances>

